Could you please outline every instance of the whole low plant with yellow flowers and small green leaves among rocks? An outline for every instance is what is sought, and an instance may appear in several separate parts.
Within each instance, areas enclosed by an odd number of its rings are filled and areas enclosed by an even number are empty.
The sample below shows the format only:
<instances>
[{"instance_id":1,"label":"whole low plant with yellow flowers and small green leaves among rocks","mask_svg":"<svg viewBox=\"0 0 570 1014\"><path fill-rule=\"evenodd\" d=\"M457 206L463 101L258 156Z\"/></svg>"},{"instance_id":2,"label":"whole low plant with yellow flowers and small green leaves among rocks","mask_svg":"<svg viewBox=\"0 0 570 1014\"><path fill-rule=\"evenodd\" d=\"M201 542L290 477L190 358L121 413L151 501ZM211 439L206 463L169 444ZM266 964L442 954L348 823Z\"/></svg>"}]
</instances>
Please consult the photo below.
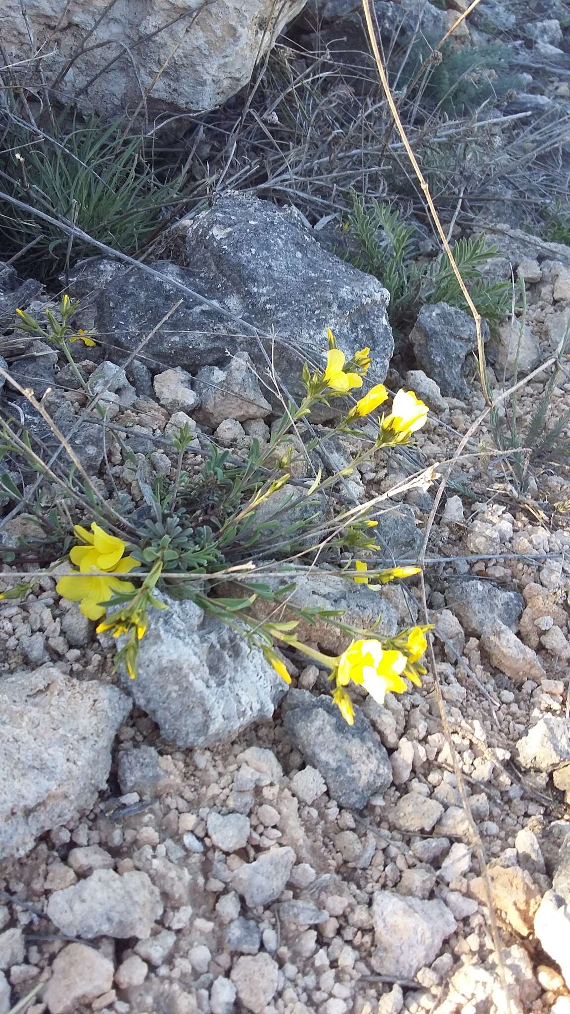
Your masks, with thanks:
<instances>
[{"instance_id":1,"label":"whole low plant with yellow flowers and small green leaves among rocks","mask_svg":"<svg viewBox=\"0 0 570 1014\"><path fill-rule=\"evenodd\" d=\"M20 327L27 334L37 329L45 339L59 343L69 358L67 334L73 309L64 297L61 320L52 313L44 329L33 317L20 313ZM298 406L285 406L267 446L262 448L253 440L245 460L235 462L226 452L211 448L202 465L191 474L185 468L185 456L194 434L188 427L181 428L172 439L173 479L145 486L145 506L131 514L121 515L112 509L84 473L71 472L65 480L58 477L32 450L28 435L17 436L10 423L3 424L0 451L25 458L37 472L43 474L44 469L47 479L59 479L63 498L52 505L48 518L45 502L32 513L46 532L50 528L52 539L57 532L56 546L50 551L52 560L68 555L75 568L60 576L57 591L78 602L89 620L97 621L98 632L111 632L118 639L116 662L124 665L132 678L151 611L167 608L168 597L174 597L193 600L237 631L287 681L290 677L279 646L299 651L328 668L334 682L333 699L348 722L353 721L349 684L360 685L383 701L386 692L407 689L405 677L419 682L425 671L420 659L428 628L409 628L380 639L373 628L358 630L338 614L288 602L288 592L295 587L295 571L306 572L318 563L338 568L343 556L348 556L348 562L340 569L342 576L357 584L366 583L370 589L379 590L387 581L418 572L414 566L378 566L379 547L372 538L377 521L369 515L383 496L357 509L332 510L327 519L319 510L327 493L355 467L386 448L408 443L425 424L427 407L412 391L400 390L391 411L379 416L375 424L371 422L373 413L389 397L382 384L372 386L352 407L339 409L336 424L323 439L350 435L359 439L360 449L350 464L333 475L325 477L319 470L308 480L292 480L287 470L289 450L282 450L287 448L287 437L304 425L316 406L330 406L332 401L359 390L369 365L368 349L347 362L329 332L326 367L312 372L303 367L305 395ZM88 383L85 387L90 393ZM309 441L308 449L311 446ZM3 488L14 500L22 500L13 484L4 482ZM71 531L78 545L70 547ZM367 555L370 566L356 559L356 554ZM284 576L291 572L291 584L276 590L264 581L271 568ZM241 582L243 593L220 594L224 590L220 585L228 581ZM276 607L287 601L293 619L278 621L270 611L260 620L252 612L258 599ZM349 644L340 654L325 654L297 636L301 620L310 624L318 617L347 634Z\"/></svg>"}]
</instances>

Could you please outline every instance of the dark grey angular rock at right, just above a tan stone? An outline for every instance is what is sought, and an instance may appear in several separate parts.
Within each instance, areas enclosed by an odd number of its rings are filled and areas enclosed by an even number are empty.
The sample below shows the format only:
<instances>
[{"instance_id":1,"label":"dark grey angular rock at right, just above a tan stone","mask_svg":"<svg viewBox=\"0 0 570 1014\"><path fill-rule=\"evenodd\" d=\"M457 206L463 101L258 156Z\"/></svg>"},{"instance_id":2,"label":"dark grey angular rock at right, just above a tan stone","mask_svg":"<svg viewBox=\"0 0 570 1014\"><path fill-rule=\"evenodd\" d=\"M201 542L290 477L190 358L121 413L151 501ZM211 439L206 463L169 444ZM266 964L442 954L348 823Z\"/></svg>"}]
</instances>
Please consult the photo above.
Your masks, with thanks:
<instances>
[{"instance_id":1,"label":"dark grey angular rock at right, just above a tan stone","mask_svg":"<svg viewBox=\"0 0 570 1014\"><path fill-rule=\"evenodd\" d=\"M466 634L477 637L483 634L491 619L501 620L510 630L516 631L524 608L524 599L518 591L507 591L492 581L477 578L450 581L445 602L461 622Z\"/></svg>"}]
</instances>

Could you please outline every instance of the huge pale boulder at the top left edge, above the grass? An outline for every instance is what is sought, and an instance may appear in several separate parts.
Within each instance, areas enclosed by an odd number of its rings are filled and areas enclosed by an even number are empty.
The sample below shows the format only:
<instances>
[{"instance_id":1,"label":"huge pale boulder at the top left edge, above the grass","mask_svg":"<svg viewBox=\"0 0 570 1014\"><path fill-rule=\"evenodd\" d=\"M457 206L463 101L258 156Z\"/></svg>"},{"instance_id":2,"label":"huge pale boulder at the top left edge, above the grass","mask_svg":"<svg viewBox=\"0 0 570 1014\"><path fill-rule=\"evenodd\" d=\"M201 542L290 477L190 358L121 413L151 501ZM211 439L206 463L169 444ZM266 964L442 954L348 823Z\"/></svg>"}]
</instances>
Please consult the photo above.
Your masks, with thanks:
<instances>
[{"instance_id":1,"label":"huge pale boulder at the top left edge, above the grass","mask_svg":"<svg viewBox=\"0 0 570 1014\"><path fill-rule=\"evenodd\" d=\"M87 5L71 0L62 8L60 0L43 0L28 4L24 14L18 0L6 0L2 41L8 55L21 62L30 55L31 31L48 82L62 74L58 97L83 107L101 114L142 104L152 115L203 111L247 83L258 60L303 4L147 0L141 6L123 0L118 8L109 0Z\"/></svg>"}]
</instances>

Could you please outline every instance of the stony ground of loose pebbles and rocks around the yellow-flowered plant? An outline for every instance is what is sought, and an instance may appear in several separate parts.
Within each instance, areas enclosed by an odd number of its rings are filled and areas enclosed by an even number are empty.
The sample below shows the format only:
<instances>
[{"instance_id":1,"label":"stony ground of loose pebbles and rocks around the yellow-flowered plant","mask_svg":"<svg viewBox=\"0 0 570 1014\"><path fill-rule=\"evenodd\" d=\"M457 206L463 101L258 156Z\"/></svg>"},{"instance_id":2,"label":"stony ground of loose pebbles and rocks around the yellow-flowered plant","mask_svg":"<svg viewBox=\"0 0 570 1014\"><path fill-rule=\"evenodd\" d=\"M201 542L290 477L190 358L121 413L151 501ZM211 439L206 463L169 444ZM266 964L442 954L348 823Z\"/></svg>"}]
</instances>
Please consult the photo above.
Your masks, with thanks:
<instances>
[{"instance_id":1,"label":"stony ground of loose pebbles and rocks around the yellow-flowered plant","mask_svg":"<svg viewBox=\"0 0 570 1014\"><path fill-rule=\"evenodd\" d=\"M535 255L510 261L527 281L526 371L570 313L566 265ZM512 379L510 338L501 328L493 339L495 392ZM65 380L56 357L31 362L40 387ZM254 434L267 439L273 410L247 363L236 354L223 369L197 363L193 376L170 365L153 377L139 365L128 377L85 358L134 451L125 463L111 436L106 468L83 424L99 488L142 502L144 469L170 474L164 435L185 420L197 461L208 433L235 454ZM484 408L469 372L472 393L458 400L441 393L431 364L429 378L421 356L409 375L388 374L430 405L420 464L448 460ZM546 381L523 388L521 425ZM564 374L560 384L550 420L570 405ZM75 420L84 395L57 399L60 418ZM410 461L367 467L352 477L361 497L391 488ZM22 604L0 604L2 1014L38 984L28 1014L570 1009L569 484L564 468L538 466L522 493L510 467L484 423L429 540L454 756L430 675L384 708L361 702L350 728L325 673L298 669L285 693L261 656L203 631L191 603L157 614L134 684L114 675L113 639L56 595L53 577ZM393 501L378 531L395 557L415 557L431 505L418 491ZM4 523L4 545L30 524ZM341 585L299 593L334 607L344 594L352 617L369 617L366 587ZM375 601L386 633L418 615L413 582Z\"/></svg>"}]
</instances>

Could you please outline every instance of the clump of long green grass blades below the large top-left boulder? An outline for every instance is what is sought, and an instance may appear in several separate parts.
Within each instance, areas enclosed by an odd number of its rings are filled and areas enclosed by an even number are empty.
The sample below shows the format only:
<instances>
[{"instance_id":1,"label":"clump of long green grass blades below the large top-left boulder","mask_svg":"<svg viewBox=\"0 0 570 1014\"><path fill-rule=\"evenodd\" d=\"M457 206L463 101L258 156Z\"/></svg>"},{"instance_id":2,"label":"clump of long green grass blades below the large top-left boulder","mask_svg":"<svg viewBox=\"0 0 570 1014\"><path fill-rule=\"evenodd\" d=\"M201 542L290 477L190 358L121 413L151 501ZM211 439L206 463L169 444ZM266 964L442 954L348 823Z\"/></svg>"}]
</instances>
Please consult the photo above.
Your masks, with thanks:
<instances>
[{"instance_id":1,"label":"clump of long green grass blades below the large top-left boulder","mask_svg":"<svg viewBox=\"0 0 570 1014\"><path fill-rule=\"evenodd\" d=\"M139 255L159 230L165 208L181 201L184 173L158 178L144 136L133 134L126 118L108 125L96 117L68 127L54 122L51 130L46 134L7 114L3 189L124 254ZM80 236L70 248L56 225L7 201L0 201L0 227L11 250L34 240L27 261L43 278L57 276L70 256L92 252Z\"/></svg>"}]
</instances>

